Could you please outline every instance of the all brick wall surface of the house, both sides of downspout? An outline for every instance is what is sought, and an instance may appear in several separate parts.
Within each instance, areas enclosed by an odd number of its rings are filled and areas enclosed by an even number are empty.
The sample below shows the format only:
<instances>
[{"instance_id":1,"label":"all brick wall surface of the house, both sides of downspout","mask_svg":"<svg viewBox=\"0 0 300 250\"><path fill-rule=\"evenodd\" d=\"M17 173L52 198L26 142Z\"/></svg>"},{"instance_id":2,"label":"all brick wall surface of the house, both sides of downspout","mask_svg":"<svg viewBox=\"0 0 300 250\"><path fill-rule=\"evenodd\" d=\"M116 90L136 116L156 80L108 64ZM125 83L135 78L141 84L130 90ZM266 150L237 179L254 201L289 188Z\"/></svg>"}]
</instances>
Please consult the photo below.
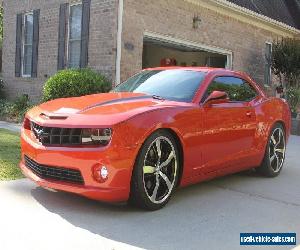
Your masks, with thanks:
<instances>
[{"instance_id":1,"label":"all brick wall surface of the house, both sides of downspout","mask_svg":"<svg viewBox=\"0 0 300 250\"><path fill-rule=\"evenodd\" d=\"M59 5L67 0L4 0L3 77L9 97L40 98L45 80L57 70ZM38 77L15 78L16 15L40 9ZM89 67L114 81L118 0L92 0ZM194 15L202 22L193 29ZM142 68L145 31L233 52L233 69L263 82L265 42L276 35L182 0L124 0L121 80ZM124 46L130 43L130 49Z\"/></svg>"}]
</instances>

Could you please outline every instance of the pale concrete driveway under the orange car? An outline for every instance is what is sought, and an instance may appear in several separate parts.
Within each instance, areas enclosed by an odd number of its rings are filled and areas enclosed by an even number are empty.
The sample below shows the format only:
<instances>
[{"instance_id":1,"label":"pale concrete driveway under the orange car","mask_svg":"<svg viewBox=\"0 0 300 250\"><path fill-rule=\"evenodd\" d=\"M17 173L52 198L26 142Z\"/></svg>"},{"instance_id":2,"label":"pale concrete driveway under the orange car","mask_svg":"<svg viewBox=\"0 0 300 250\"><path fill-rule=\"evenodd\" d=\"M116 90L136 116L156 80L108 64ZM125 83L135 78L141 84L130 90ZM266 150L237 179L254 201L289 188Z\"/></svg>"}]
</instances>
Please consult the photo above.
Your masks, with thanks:
<instances>
[{"instance_id":1,"label":"pale concrete driveway under the orange car","mask_svg":"<svg viewBox=\"0 0 300 250\"><path fill-rule=\"evenodd\" d=\"M240 232L296 232L299 242L299 154L300 137L293 136L279 177L249 172L194 185L156 212L50 192L28 180L1 182L0 249L253 249L239 246Z\"/></svg>"}]
</instances>

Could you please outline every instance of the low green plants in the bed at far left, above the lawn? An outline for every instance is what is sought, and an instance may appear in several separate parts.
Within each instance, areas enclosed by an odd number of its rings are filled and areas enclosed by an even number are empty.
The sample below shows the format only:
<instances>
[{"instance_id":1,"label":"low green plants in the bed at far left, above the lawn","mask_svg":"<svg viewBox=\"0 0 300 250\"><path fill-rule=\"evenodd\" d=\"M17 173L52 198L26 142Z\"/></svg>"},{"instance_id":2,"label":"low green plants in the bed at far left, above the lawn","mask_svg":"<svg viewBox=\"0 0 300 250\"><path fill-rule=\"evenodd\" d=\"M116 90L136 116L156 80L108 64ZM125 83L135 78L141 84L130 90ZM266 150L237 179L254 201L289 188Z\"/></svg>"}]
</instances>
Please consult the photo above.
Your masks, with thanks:
<instances>
[{"instance_id":1,"label":"low green plants in the bed at far left, above the lawn","mask_svg":"<svg viewBox=\"0 0 300 250\"><path fill-rule=\"evenodd\" d=\"M14 102L0 100L0 118L22 122L25 113L32 107L28 95L21 95Z\"/></svg>"}]
</instances>

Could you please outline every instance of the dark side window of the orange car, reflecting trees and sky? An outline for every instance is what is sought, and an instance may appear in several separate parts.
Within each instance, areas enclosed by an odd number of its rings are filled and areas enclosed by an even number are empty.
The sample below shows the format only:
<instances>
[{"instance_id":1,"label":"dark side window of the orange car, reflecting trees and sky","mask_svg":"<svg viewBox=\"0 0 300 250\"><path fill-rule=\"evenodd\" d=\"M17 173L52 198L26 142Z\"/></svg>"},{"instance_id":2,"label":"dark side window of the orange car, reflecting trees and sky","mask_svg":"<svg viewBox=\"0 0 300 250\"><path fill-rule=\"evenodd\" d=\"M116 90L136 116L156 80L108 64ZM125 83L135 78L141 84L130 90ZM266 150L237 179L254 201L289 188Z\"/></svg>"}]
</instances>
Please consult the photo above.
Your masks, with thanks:
<instances>
[{"instance_id":1,"label":"dark side window of the orange car, reflecting trees and sky","mask_svg":"<svg viewBox=\"0 0 300 250\"><path fill-rule=\"evenodd\" d=\"M209 85L206 96L216 90L225 91L232 102L247 102L257 96L256 90L248 82L231 76L216 77Z\"/></svg>"}]
</instances>

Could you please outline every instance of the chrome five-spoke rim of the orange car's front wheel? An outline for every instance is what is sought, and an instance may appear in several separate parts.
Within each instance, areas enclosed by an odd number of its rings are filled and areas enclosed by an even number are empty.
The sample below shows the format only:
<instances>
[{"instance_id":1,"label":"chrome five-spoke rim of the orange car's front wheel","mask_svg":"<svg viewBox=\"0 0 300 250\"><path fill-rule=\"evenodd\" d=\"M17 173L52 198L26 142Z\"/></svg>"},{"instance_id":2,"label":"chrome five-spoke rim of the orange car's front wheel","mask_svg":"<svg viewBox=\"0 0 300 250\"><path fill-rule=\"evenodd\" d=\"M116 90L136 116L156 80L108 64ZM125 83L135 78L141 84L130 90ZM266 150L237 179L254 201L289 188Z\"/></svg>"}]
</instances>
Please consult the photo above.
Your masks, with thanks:
<instances>
[{"instance_id":1,"label":"chrome five-spoke rim of the orange car's front wheel","mask_svg":"<svg viewBox=\"0 0 300 250\"><path fill-rule=\"evenodd\" d=\"M143 165L144 189L153 203L163 203L171 194L177 174L177 155L172 142L157 137L148 147Z\"/></svg>"}]
</instances>

